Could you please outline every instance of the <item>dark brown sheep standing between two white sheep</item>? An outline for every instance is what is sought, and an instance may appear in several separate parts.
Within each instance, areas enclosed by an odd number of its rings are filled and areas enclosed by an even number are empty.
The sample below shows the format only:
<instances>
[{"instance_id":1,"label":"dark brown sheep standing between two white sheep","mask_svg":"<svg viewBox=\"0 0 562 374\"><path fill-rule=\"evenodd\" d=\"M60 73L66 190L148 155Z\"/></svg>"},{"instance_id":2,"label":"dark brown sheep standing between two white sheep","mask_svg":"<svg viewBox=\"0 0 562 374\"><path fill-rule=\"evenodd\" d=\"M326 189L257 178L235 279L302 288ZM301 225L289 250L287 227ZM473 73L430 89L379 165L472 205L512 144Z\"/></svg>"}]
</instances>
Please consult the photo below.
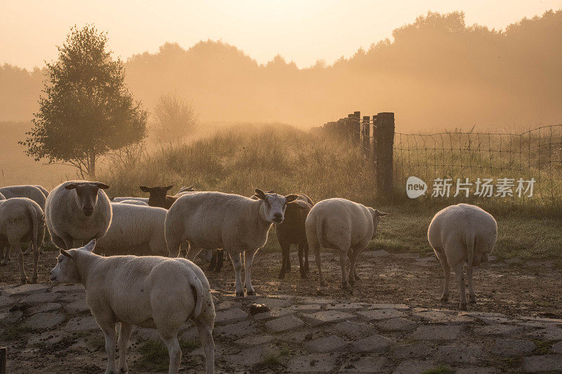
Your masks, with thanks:
<instances>
[{"instance_id":1,"label":"dark brown sheep standing between two white sheep","mask_svg":"<svg viewBox=\"0 0 562 374\"><path fill-rule=\"evenodd\" d=\"M285 278L285 272L291 271L291 259L289 252L292 244L299 246L299 271L301 278L306 278L308 273L308 243L306 243L306 229L304 223L308 212L311 211L314 202L307 195L295 193L299 196L295 202L287 205L285 219L280 224L275 224L275 236L281 247L282 265L279 278ZM301 206L295 203L302 202ZM304 251L304 260L303 260Z\"/></svg>"}]
</instances>

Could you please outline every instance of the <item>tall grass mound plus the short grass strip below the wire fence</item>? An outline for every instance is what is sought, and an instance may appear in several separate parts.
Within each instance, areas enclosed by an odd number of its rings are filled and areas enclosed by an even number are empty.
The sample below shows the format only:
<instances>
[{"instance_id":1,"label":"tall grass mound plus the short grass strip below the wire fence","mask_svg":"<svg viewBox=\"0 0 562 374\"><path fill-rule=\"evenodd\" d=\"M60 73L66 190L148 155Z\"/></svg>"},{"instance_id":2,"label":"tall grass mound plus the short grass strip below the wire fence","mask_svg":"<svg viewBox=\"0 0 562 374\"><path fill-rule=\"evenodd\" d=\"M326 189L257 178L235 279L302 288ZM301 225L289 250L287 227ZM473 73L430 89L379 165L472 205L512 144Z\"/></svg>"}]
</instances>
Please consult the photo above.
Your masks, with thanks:
<instances>
[{"instance_id":1,"label":"tall grass mound plus the short grass strip below the wire fence","mask_svg":"<svg viewBox=\"0 0 562 374\"><path fill-rule=\"evenodd\" d=\"M391 202L375 191L372 163L347 143L320 133L292 127L244 126L218 131L189 145L161 147L128 165L114 165L98 179L111 186L111 195L142 195L138 186L195 184L200 191L251 195L254 188L277 193L302 192L314 201L342 197L372 205L391 214L381 219L372 249L426 252L427 227L433 215L459 199ZM562 219L557 209L529 202L471 200L495 215L499 259L562 260ZM275 235L263 248L278 251Z\"/></svg>"}]
</instances>

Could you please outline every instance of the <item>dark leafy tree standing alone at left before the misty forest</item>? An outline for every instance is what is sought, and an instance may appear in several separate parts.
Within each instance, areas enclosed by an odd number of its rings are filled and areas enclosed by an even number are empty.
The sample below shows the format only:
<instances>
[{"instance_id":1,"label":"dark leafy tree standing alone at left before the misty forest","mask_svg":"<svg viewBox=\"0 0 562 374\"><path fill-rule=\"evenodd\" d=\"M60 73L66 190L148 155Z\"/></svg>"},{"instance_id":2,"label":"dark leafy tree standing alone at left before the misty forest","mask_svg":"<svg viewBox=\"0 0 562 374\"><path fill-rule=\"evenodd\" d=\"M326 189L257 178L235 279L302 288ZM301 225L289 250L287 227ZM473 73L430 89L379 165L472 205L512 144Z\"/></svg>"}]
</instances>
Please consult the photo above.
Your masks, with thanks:
<instances>
[{"instance_id":1,"label":"dark leafy tree standing alone at left before the misty forest","mask_svg":"<svg viewBox=\"0 0 562 374\"><path fill-rule=\"evenodd\" d=\"M148 112L126 89L121 60L106 51L107 33L93 25L72 27L58 60L47 64L44 96L25 153L51 163L77 167L96 176L96 160L145 138Z\"/></svg>"}]
</instances>

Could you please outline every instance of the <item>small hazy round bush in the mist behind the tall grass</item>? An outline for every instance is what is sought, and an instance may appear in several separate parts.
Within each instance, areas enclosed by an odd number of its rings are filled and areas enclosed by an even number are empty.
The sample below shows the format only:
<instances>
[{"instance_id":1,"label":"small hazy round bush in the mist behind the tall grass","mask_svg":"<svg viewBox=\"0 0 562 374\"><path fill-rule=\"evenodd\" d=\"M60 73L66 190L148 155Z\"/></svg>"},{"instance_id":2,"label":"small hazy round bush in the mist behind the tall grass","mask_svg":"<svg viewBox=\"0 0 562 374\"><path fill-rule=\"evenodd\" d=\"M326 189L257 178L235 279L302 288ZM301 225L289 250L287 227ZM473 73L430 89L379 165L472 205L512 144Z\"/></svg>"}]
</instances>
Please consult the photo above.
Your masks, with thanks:
<instances>
[{"instance_id":1,"label":"small hazy round bush in the mist behind the tall grass","mask_svg":"<svg viewBox=\"0 0 562 374\"><path fill-rule=\"evenodd\" d=\"M193 105L177 93L162 93L156 103L155 115L164 140L183 138L197 127Z\"/></svg>"}]
</instances>

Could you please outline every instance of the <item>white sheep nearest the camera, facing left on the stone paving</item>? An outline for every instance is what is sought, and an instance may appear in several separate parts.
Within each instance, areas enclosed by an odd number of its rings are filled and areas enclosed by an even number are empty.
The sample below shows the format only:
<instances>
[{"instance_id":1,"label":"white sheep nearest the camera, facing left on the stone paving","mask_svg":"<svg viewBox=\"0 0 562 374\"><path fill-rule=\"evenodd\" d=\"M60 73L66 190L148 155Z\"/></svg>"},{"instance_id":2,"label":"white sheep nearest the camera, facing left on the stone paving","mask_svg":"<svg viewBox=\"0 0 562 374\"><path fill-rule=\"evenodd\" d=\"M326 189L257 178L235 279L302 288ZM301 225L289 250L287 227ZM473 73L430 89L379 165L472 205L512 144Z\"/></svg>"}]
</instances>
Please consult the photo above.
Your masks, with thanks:
<instances>
[{"instance_id":1,"label":"white sheep nearest the camera, facing left on the stone paving","mask_svg":"<svg viewBox=\"0 0 562 374\"><path fill-rule=\"evenodd\" d=\"M168 347L168 373L178 373L181 348L178 331L191 319L197 326L207 373L214 373L215 309L209 281L199 266L174 258L101 257L92 253L96 240L84 247L60 250L51 270L53 283L81 283L86 304L105 335L107 370L127 373L126 349L133 325L156 328ZM119 329L119 368L115 369L115 324Z\"/></svg>"}]
</instances>

